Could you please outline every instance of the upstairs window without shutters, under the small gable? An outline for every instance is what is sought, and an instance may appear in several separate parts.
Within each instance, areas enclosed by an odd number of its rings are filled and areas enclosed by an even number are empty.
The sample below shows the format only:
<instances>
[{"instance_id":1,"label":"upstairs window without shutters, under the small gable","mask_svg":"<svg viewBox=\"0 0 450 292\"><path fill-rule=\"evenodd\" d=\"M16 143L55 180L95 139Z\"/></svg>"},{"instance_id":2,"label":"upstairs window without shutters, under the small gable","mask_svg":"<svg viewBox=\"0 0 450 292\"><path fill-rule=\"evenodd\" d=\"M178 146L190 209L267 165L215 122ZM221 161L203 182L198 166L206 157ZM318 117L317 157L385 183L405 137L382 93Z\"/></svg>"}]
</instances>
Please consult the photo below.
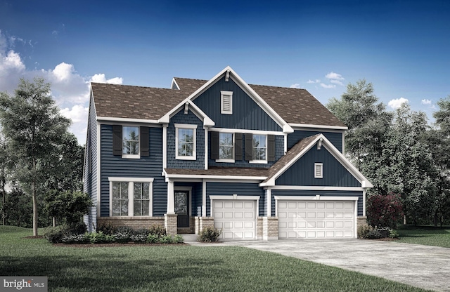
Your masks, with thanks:
<instances>
[{"instance_id":1,"label":"upstairs window without shutters, under the small gable","mask_svg":"<svg viewBox=\"0 0 450 292\"><path fill-rule=\"evenodd\" d=\"M195 131L197 125L175 124L176 159L195 160Z\"/></svg>"}]
</instances>

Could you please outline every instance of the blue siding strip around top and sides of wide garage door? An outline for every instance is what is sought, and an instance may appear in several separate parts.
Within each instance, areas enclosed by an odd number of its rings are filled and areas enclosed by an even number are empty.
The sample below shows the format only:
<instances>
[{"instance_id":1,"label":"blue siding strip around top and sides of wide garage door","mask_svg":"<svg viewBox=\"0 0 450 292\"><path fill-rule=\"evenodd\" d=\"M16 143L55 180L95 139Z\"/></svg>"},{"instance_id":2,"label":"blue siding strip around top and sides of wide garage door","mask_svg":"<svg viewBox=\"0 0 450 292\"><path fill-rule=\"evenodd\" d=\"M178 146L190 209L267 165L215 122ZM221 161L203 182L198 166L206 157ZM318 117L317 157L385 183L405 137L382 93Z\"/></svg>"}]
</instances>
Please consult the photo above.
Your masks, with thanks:
<instances>
[{"instance_id":1,"label":"blue siding strip around top and sides of wide garage door","mask_svg":"<svg viewBox=\"0 0 450 292\"><path fill-rule=\"evenodd\" d=\"M362 191L308 191L308 190L272 190L272 216L275 216L275 198L274 196L321 196L329 197L358 197L358 216L363 215L363 192Z\"/></svg>"}]
</instances>

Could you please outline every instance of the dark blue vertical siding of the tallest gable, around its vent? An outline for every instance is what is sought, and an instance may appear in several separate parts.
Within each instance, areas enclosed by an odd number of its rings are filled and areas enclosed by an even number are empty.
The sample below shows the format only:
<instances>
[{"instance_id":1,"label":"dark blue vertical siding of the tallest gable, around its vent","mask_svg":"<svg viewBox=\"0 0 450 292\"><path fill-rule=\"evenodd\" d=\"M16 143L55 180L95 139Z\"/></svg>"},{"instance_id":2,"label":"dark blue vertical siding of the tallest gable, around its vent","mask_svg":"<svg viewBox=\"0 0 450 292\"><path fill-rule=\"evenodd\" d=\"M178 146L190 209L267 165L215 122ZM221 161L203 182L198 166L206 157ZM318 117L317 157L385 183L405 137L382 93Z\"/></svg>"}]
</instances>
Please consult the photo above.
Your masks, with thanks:
<instances>
[{"instance_id":1,"label":"dark blue vertical siding of the tallest gable, around its vent","mask_svg":"<svg viewBox=\"0 0 450 292\"><path fill-rule=\"evenodd\" d=\"M233 114L220 113L220 91L233 91ZM214 121L217 128L282 131L232 79L228 82L224 78L220 79L193 102Z\"/></svg>"}]
</instances>

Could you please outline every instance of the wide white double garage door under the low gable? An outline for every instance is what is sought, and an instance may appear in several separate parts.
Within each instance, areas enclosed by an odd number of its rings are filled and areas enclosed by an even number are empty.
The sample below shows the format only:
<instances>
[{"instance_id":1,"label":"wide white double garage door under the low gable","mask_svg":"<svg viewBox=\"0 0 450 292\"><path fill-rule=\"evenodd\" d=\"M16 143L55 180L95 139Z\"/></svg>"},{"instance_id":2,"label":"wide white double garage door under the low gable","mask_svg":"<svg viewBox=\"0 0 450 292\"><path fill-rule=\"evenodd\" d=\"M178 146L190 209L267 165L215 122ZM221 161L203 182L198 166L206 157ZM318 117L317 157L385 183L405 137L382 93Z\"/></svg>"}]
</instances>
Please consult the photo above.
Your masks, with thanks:
<instances>
[{"instance_id":1,"label":"wide white double garage door under the low gable","mask_svg":"<svg viewBox=\"0 0 450 292\"><path fill-rule=\"evenodd\" d=\"M280 239L355 238L354 201L278 201Z\"/></svg>"}]
</instances>

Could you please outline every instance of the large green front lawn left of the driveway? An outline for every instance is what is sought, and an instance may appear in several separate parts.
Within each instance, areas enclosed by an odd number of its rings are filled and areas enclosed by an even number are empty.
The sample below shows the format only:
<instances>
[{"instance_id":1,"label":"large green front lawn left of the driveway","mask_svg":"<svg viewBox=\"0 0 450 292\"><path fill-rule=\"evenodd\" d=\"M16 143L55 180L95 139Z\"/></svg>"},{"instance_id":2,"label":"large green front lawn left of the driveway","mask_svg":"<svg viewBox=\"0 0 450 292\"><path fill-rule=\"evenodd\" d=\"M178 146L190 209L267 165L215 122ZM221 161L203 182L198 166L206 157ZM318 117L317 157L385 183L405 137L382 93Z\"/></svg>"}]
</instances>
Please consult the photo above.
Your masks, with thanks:
<instances>
[{"instance_id":1,"label":"large green front lawn left of the driveway","mask_svg":"<svg viewBox=\"0 0 450 292\"><path fill-rule=\"evenodd\" d=\"M0 274L48 276L49 291L424 291L240 246L53 246L0 226Z\"/></svg>"}]
</instances>

